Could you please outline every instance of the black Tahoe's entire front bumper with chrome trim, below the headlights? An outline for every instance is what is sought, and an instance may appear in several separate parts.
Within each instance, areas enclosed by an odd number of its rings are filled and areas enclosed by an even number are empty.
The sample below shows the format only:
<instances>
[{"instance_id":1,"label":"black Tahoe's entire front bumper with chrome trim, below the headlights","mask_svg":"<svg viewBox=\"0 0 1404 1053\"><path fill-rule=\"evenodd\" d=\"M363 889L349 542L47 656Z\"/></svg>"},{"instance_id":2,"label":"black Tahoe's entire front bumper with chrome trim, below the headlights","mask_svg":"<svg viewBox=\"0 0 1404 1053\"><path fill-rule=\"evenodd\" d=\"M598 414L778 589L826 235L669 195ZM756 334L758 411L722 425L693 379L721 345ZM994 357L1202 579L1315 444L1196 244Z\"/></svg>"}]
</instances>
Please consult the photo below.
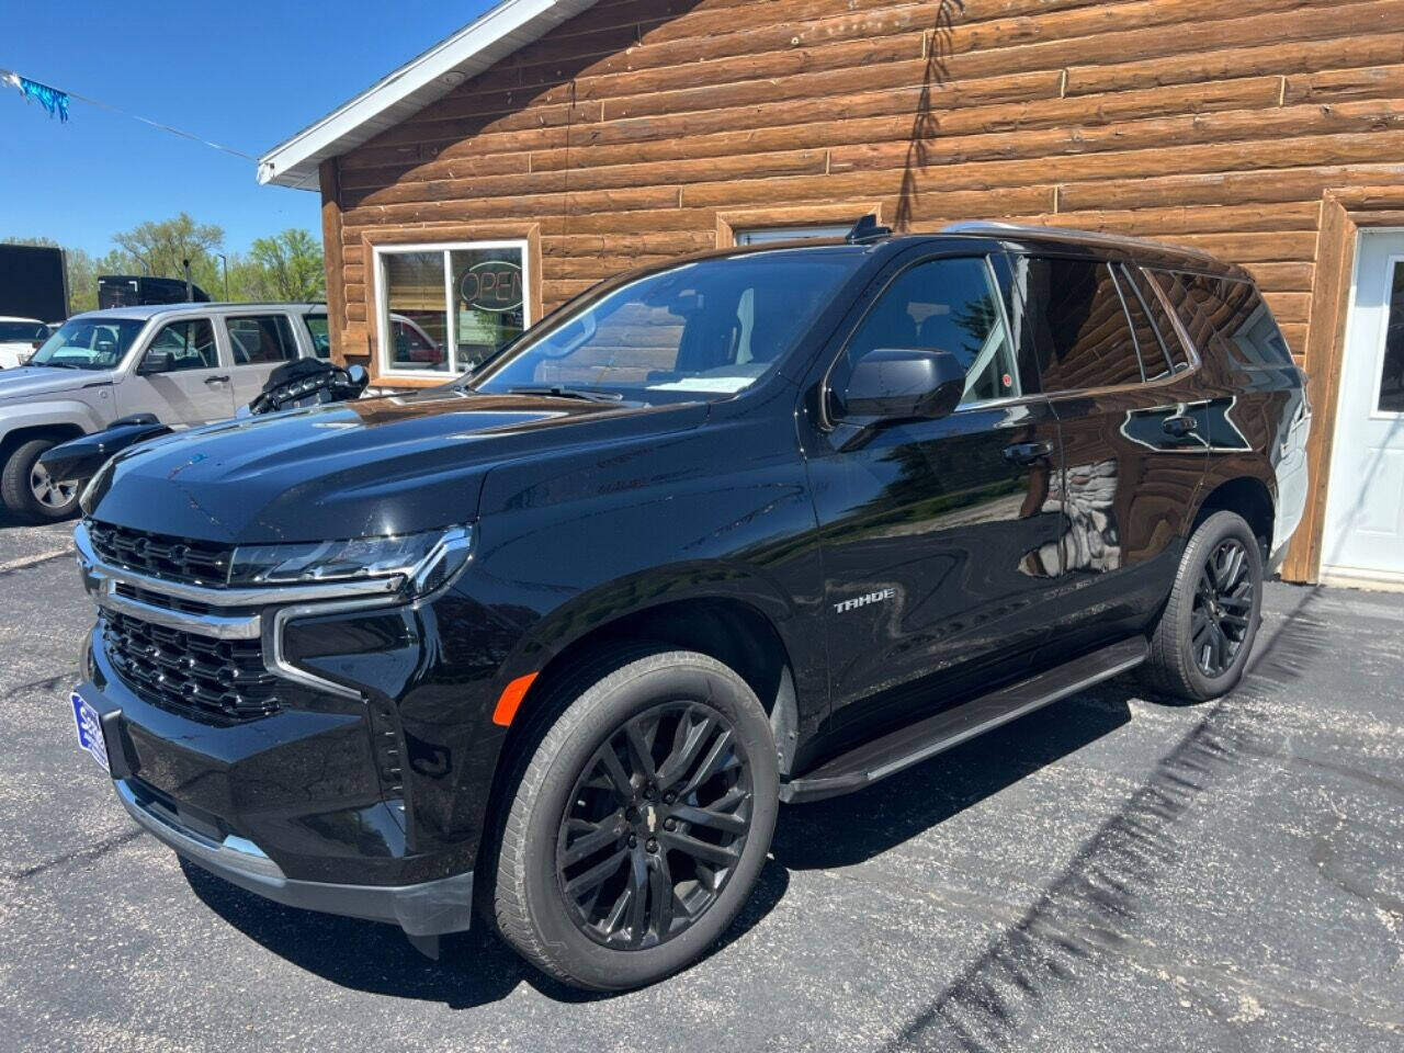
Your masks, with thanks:
<instances>
[{"instance_id":1,"label":"black Tahoe's entire front bumper with chrome trim, below the headlights","mask_svg":"<svg viewBox=\"0 0 1404 1053\"><path fill-rule=\"evenodd\" d=\"M76 539L101 608L77 692L146 830L279 903L411 936L468 928L504 731L490 720L491 685L514 635L494 635L491 614L452 588L417 604L254 597L104 563L81 528ZM227 664L236 677L275 674L272 702L253 716L177 705L133 678L142 640L111 619L161 629L142 629L161 682L180 684L184 661L201 685Z\"/></svg>"}]
</instances>

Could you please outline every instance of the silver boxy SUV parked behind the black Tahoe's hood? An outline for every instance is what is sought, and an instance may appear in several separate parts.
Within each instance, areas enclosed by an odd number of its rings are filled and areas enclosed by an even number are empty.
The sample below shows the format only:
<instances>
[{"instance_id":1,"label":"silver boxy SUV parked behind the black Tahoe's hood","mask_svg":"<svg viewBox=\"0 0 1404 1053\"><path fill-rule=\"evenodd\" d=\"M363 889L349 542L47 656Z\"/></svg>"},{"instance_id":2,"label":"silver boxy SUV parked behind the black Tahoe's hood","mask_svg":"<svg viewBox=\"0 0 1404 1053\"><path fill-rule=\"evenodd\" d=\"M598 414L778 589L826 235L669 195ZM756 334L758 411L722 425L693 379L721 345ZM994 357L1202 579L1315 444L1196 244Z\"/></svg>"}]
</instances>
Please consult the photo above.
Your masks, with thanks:
<instances>
[{"instance_id":1,"label":"silver boxy SUV parked behind the black Tahoe's hood","mask_svg":"<svg viewBox=\"0 0 1404 1053\"><path fill-rule=\"evenodd\" d=\"M132 414L173 425L233 417L274 368L313 354L309 319L319 314L324 306L306 303L74 314L21 368L0 372L0 500L29 522L73 515L77 487L49 477L38 463L45 449Z\"/></svg>"}]
</instances>

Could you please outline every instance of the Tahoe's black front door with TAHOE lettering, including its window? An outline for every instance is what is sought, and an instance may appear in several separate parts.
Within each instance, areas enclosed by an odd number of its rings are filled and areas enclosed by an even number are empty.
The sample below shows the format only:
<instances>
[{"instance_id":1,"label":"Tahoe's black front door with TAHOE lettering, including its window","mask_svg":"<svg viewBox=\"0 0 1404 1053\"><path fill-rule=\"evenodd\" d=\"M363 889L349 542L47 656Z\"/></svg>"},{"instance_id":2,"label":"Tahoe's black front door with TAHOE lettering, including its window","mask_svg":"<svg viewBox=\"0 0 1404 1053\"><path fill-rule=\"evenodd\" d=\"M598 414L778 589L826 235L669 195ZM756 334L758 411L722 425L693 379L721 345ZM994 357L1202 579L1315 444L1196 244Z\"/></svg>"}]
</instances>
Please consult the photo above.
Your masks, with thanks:
<instances>
[{"instance_id":1,"label":"Tahoe's black front door with TAHOE lettering, including its window","mask_svg":"<svg viewBox=\"0 0 1404 1053\"><path fill-rule=\"evenodd\" d=\"M1022 397L995 275L983 256L908 267L830 373L841 421L847 378L873 350L951 351L967 369L949 417L858 435L838 423L807 448L835 724L953 701L1021 671L1045 637L1039 602L1060 570L1057 421L1043 397ZM932 674L939 691L924 687Z\"/></svg>"}]
</instances>

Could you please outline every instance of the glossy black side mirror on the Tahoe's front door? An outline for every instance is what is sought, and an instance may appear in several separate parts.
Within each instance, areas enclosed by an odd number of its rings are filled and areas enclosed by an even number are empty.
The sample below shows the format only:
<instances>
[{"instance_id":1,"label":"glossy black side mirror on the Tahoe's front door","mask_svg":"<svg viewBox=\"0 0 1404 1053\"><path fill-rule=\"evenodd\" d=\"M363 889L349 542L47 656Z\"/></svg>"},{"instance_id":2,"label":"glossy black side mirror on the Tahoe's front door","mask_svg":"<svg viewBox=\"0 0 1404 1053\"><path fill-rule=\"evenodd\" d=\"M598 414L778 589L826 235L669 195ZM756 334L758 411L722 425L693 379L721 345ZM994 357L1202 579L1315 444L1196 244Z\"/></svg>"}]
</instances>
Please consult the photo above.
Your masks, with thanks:
<instances>
[{"instance_id":1,"label":"glossy black side mirror on the Tahoe's front door","mask_svg":"<svg viewBox=\"0 0 1404 1053\"><path fill-rule=\"evenodd\" d=\"M935 420L965 395L965 366L949 351L878 348L858 359L841 397L845 421Z\"/></svg>"}]
</instances>

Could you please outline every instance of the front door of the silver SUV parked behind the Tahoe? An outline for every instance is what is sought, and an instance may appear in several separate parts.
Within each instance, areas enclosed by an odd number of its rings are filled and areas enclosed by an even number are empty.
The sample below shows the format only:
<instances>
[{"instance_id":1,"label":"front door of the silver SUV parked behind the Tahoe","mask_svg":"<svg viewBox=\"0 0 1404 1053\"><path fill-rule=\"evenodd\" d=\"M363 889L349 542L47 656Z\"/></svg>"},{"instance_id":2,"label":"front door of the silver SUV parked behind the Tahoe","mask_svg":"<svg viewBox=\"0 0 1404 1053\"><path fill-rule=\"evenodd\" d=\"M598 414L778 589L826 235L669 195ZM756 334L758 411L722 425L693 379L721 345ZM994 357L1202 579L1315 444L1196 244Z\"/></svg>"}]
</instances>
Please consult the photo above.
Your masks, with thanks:
<instances>
[{"instance_id":1,"label":"front door of the silver SUV parked behind the Tahoe","mask_svg":"<svg viewBox=\"0 0 1404 1053\"><path fill-rule=\"evenodd\" d=\"M153 351L164 352L156 369ZM136 369L117 386L119 416L154 413L161 424L208 424L234 416L230 371L220 362L208 317L168 322L152 337Z\"/></svg>"}]
</instances>

